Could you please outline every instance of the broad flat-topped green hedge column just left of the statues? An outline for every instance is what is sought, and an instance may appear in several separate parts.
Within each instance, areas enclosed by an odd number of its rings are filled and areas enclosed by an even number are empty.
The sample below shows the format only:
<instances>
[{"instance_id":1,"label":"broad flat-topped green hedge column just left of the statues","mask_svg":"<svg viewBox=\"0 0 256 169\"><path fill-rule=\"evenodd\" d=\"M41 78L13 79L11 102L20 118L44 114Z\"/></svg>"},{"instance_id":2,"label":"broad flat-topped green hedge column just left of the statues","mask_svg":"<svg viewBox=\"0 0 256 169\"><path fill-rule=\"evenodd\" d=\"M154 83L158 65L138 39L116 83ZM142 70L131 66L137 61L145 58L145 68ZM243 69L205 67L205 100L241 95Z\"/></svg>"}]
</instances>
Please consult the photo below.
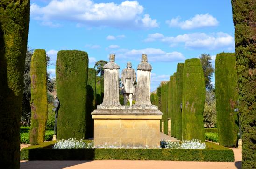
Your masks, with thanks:
<instances>
[{"instance_id":1,"label":"broad flat-topped green hedge column just left of the statues","mask_svg":"<svg viewBox=\"0 0 256 169\"><path fill-rule=\"evenodd\" d=\"M57 96L60 101L57 139L85 138L88 55L61 50L56 61Z\"/></svg>"}]
</instances>

